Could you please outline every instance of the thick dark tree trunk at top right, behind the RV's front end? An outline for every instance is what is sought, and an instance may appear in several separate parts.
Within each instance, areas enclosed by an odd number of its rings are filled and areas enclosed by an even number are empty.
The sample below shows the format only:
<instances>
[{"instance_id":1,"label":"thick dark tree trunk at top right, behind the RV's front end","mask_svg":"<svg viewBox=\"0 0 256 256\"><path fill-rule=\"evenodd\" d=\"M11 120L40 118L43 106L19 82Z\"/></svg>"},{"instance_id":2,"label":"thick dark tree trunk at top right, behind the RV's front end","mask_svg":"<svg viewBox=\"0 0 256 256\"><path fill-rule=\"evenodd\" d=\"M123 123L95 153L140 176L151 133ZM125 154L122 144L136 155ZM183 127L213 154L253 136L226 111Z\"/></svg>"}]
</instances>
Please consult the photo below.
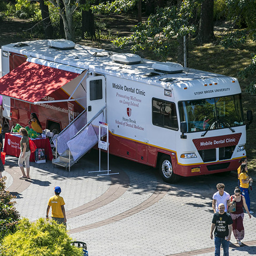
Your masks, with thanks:
<instances>
[{"instance_id":1,"label":"thick dark tree trunk at top right, behind the RV's front end","mask_svg":"<svg viewBox=\"0 0 256 256\"><path fill-rule=\"evenodd\" d=\"M200 22L198 28L197 40L200 44L209 43L215 40L213 32L213 2L214 0L205 0L201 4Z\"/></svg>"}]
</instances>

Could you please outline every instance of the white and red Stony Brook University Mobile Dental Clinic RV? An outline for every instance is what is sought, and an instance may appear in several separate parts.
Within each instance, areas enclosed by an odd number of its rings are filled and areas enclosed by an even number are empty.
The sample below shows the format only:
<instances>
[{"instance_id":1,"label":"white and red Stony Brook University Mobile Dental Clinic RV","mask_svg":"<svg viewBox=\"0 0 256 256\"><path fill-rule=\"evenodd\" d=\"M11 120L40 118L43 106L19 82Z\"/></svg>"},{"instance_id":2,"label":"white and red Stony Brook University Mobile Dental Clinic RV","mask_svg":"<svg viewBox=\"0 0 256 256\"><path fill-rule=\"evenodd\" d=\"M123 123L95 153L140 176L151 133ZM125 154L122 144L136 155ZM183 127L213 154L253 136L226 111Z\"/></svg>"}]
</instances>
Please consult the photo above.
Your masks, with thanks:
<instances>
[{"instance_id":1,"label":"white and red Stony Brook University Mobile Dental Clinic RV","mask_svg":"<svg viewBox=\"0 0 256 256\"><path fill-rule=\"evenodd\" d=\"M68 102L77 115L86 111L85 124L102 109L110 154L159 167L166 182L236 170L246 156L236 78L67 40L2 46L2 75L3 115L10 121L23 124L37 112L43 129L62 130ZM75 147L80 150L78 140Z\"/></svg>"}]
</instances>

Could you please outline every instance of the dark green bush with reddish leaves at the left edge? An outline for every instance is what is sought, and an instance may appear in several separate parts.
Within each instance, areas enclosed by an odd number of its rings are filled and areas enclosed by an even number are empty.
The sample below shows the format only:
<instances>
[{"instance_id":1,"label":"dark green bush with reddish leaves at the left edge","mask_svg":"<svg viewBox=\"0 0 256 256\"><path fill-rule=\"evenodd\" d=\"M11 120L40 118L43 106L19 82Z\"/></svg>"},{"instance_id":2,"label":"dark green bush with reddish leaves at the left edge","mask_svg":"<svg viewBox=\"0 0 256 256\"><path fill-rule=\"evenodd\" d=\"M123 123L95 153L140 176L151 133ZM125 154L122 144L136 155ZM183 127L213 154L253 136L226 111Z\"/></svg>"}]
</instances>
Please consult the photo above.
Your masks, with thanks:
<instances>
[{"instance_id":1,"label":"dark green bush with reddish leaves at the left edge","mask_svg":"<svg viewBox=\"0 0 256 256\"><path fill-rule=\"evenodd\" d=\"M20 217L14 206L15 197L5 191L5 180L6 177L0 179L0 241L4 236L15 231Z\"/></svg>"}]
</instances>

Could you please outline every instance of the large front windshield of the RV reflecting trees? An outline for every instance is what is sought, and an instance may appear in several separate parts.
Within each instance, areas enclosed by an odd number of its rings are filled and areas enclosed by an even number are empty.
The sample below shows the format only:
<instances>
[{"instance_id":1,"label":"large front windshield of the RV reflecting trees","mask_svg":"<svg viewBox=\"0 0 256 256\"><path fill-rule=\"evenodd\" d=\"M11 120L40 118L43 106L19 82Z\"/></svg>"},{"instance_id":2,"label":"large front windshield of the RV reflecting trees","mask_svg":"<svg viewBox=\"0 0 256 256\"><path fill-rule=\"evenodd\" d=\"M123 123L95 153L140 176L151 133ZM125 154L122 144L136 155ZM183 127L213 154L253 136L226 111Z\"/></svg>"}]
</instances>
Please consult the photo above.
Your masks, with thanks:
<instances>
[{"instance_id":1,"label":"large front windshield of the RV reflecting trees","mask_svg":"<svg viewBox=\"0 0 256 256\"><path fill-rule=\"evenodd\" d=\"M214 130L245 124L241 94L178 102L180 121L187 132Z\"/></svg>"}]
</instances>

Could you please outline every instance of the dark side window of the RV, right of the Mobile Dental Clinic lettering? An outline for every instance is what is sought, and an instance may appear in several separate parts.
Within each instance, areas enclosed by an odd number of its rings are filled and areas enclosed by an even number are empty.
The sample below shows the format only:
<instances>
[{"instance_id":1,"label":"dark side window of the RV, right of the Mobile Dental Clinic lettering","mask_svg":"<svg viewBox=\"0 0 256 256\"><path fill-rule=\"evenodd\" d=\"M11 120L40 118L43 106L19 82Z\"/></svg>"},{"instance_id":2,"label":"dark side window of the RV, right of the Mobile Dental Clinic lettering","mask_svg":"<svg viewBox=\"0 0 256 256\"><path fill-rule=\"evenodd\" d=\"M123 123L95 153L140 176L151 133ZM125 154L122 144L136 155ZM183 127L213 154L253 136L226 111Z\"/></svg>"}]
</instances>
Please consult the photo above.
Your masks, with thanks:
<instances>
[{"instance_id":1,"label":"dark side window of the RV, right of the Mobile Dental Clinic lettering","mask_svg":"<svg viewBox=\"0 0 256 256\"><path fill-rule=\"evenodd\" d=\"M178 130L177 112L173 102L152 99L152 123L155 126Z\"/></svg>"}]
</instances>

